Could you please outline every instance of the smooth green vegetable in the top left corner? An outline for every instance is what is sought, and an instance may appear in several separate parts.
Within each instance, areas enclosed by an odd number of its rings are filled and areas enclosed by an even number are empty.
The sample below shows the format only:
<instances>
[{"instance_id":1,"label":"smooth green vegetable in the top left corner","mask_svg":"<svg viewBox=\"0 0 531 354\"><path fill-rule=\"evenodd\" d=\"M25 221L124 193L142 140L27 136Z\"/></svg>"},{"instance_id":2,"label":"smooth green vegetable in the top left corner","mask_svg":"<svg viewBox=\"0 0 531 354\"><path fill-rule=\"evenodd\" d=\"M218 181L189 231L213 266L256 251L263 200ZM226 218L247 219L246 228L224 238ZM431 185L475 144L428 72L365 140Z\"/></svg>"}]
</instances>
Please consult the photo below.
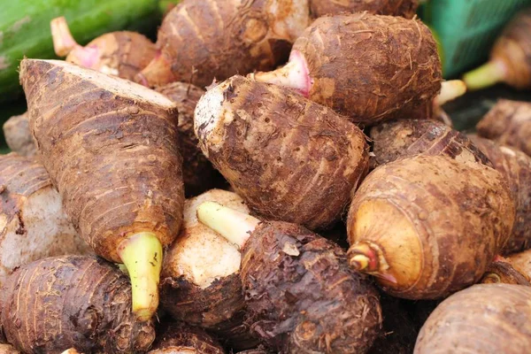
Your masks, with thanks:
<instances>
[{"instance_id":1,"label":"smooth green vegetable in the top left corner","mask_svg":"<svg viewBox=\"0 0 531 354\"><path fill-rule=\"evenodd\" d=\"M158 0L4 0L0 9L0 101L22 92L22 58L55 58L51 19L65 16L81 44L119 29L152 29L160 19Z\"/></svg>"}]
</instances>

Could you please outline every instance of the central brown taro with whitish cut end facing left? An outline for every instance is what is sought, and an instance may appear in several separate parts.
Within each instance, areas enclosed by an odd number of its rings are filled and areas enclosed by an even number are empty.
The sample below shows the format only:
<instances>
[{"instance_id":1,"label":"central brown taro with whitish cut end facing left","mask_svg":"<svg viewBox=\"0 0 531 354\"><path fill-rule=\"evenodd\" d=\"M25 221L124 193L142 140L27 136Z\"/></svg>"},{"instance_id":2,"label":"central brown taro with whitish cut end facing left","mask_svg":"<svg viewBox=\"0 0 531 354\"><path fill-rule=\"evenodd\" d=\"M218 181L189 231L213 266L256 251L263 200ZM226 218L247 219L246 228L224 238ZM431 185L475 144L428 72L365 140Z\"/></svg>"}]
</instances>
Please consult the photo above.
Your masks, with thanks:
<instances>
[{"instance_id":1,"label":"central brown taro with whitish cut end facing left","mask_svg":"<svg viewBox=\"0 0 531 354\"><path fill-rule=\"evenodd\" d=\"M368 167L366 136L327 107L278 86L234 76L199 100L204 155L254 212L327 227Z\"/></svg>"}]
</instances>

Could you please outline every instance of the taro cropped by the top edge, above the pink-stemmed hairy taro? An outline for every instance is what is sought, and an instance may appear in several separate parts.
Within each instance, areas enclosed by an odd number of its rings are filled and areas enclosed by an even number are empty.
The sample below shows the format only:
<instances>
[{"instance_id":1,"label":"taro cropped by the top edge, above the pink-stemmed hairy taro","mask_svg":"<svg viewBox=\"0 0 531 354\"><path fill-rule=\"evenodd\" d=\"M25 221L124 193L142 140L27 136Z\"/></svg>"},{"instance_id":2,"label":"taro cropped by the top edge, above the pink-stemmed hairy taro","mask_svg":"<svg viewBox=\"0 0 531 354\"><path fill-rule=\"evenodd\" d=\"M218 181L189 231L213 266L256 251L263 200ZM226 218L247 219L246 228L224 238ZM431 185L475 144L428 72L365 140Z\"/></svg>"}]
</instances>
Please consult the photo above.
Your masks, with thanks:
<instances>
[{"instance_id":1,"label":"taro cropped by the top edge, above the pink-stemmed hairy taro","mask_svg":"<svg viewBox=\"0 0 531 354\"><path fill-rule=\"evenodd\" d=\"M314 19L342 12L370 12L412 19L418 6L417 0L310 0L310 11Z\"/></svg>"}]
</instances>

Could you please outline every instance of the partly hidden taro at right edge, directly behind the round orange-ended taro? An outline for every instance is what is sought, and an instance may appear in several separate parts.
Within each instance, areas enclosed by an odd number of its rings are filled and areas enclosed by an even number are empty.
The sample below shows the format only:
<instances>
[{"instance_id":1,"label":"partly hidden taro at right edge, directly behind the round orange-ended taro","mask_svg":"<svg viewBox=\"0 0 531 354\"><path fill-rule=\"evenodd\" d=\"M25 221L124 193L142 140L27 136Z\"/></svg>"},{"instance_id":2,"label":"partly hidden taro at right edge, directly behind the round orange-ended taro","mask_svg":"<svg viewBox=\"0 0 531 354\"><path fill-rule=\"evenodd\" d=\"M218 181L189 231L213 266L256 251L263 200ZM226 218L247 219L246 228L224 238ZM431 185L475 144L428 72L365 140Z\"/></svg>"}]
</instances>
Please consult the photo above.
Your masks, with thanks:
<instances>
[{"instance_id":1,"label":"partly hidden taro at right edge, directly behind the round orange-ended taro","mask_svg":"<svg viewBox=\"0 0 531 354\"><path fill-rule=\"evenodd\" d=\"M509 184L516 205L516 219L512 235L503 254L519 252L531 247L531 158L519 150L502 146L479 136L469 136L482 150Z\"/></svg>"}]
</instances>

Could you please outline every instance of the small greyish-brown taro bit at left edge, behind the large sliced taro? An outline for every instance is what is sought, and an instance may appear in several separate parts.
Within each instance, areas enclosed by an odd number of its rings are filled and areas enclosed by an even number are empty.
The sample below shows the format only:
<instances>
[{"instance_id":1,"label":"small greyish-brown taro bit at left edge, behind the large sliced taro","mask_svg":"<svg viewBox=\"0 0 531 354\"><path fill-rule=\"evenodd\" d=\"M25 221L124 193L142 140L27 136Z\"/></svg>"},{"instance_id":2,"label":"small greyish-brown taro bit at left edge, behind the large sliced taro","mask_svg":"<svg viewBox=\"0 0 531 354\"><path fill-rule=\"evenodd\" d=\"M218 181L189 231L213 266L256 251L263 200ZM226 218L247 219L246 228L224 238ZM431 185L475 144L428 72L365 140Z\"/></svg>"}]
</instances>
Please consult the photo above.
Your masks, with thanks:
<instances>
[{"instance_id":1,"label":"small greyish-brown taro bit at left edge, behind the large sliced taro","mask_svg":"<svg viewBox=\"0 0 531 354\"><path fill-rule=\"evenodd\" d=\"M33 157L37 149L29 131L29 116L27 112L19 116L12 116L4 123L4 137L7 146L21 156Z\"/></svg>"}]
</instances>

